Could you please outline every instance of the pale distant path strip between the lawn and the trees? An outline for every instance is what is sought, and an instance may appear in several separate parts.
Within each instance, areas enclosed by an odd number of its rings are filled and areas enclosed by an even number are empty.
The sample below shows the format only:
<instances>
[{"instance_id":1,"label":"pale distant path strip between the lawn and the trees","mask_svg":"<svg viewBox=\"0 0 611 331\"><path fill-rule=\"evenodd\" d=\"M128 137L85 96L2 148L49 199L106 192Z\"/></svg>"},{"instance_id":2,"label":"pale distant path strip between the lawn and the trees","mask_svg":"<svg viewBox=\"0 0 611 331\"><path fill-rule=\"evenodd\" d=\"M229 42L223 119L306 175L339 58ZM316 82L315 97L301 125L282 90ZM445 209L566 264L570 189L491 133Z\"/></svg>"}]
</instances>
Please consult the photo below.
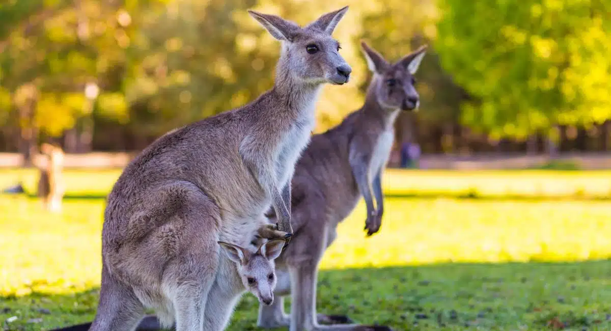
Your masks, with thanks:
<instances>
[{"instance_id":1,"label":"pale distant path strip between the lawn and the trees","mask_svg":"<svg viewBox=\"0 0 611 331\"><path fill-rule=\"evenodd\" d=\"M122 168L137 152L93 152L67 154L66 168ZM527 156L522 153L486 153L472 156L423 155L420 167L424 169L525 169L541 166L551 161L546 155ZM611 153L563 153L555 158L558 162L572 162L580 169L611 169ZM35 164L42 158L35 158ZM398 164L398 153L393 153L390 166ZM0 153L0 168L14 168L21 165L17 153Z\"/></svg>"}]
</instances>

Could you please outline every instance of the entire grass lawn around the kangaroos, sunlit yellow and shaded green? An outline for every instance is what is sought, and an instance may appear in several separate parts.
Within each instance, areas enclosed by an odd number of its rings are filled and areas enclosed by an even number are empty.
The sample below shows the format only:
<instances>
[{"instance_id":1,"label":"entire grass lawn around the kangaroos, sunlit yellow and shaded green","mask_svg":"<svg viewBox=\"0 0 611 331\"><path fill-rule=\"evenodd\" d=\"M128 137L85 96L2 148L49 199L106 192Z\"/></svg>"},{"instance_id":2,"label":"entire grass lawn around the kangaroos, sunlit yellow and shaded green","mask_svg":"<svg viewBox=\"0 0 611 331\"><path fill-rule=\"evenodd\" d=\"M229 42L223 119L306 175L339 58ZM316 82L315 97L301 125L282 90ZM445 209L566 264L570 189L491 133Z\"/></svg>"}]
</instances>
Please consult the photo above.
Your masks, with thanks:
<instances>
[{"instance_id":1,"label":"entire grass lawn around the kangaroos, sunlit yellow and shaded green","mask_svg":"<svg viewBox=\"0 0 611 331\"><path fill-rule=\"evenodd\" d=\"M610 191L610 174L389 171L381 232L365 238L362 203L340 224L324 257L318 310L397 330L611 330L611 200L587 198ZM68 172L61 214L31 197L0 195L0 328L93 318L103 196L118 175ZM0 189L18 177L35 187L35 173L19 170L3 172ZM555 183L573 191L564 200L536 189L494 197L499 185L532 181L545 192ZM473 187L478 195L456 198ZM417 192L423 197L394 197ZM243 297L229 330L257 330L255 301Z\"/></svg>"}]
</instances>

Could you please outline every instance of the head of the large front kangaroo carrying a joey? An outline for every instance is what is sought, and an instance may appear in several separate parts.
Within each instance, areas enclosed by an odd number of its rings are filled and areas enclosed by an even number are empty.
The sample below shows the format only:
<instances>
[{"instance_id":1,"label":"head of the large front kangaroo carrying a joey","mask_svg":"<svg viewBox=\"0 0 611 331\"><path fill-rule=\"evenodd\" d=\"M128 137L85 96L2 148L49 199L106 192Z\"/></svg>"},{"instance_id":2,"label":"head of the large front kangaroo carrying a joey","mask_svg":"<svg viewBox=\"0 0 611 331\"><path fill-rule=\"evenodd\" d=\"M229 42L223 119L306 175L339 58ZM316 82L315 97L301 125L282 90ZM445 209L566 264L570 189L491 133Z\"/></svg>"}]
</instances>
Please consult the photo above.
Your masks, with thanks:
<instances>
[{"instance_id":1,"label":"head of the large front kangaroo carrying a joey","mask_svg":"<svg viewBox=\"0 0 611 331\"><path fill-rule=\"evenodd\" d=\"M305 27L279 16L248 12L282 42L276 75L290 75L311 84L341 85L348 82L352 68L340 55L340 44L331 34L346 10L348 6L326 13Z\"/></svg>"}]
</instances>

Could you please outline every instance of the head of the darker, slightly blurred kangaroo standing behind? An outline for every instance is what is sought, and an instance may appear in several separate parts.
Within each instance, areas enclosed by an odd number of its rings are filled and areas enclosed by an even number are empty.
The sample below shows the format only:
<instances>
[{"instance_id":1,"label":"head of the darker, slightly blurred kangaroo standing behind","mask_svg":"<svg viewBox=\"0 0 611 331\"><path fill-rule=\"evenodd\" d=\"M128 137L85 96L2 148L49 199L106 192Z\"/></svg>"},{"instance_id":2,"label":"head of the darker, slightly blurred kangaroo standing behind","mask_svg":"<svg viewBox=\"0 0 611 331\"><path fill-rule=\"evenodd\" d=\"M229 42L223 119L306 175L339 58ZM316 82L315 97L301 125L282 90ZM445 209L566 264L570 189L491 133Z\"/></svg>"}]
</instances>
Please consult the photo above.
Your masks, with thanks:
<instances>
[{"instance_id":1,"label":"head of the darker, slightly blurred kangaroo standing behind","mask_svg":"<svg viewBox=\"0 0 611 331\"><path fill-rule=\"evenodd\" d=\"M414 74L426 53L426 45L390 64L373 48L361 42L367 66L373 71L370 93L378 104L394 111L412 111L420 105L420 95L415 89Z\"/></svg>"}]
</instances>

